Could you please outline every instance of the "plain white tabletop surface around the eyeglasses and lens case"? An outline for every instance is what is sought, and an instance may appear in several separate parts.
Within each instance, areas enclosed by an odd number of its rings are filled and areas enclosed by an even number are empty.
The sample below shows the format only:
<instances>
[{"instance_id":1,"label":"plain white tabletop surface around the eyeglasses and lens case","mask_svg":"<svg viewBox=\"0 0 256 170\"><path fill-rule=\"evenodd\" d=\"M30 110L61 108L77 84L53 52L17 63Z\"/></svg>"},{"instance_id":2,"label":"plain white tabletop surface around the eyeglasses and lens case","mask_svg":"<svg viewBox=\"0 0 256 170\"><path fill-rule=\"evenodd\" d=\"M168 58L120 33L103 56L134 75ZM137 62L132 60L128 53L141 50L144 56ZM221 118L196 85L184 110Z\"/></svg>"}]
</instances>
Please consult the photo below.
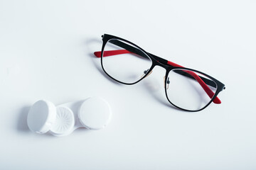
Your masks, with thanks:
<instances>
[{"instance_id":1,"label":"plain white tabletop surface around the eyeglasses and lens case","mask_svg":"<svg viewBox=\"0 0 256 170\"><path fill-rule=\"evenodd\" d=\"M256 169L255 1L0 1L0 169ZM114 83L92 52L101 35L222 81L222 103L166 105L164 69ZM29 107L102 96L104 130L28 130Z\"/></svg>"}]
</instances>

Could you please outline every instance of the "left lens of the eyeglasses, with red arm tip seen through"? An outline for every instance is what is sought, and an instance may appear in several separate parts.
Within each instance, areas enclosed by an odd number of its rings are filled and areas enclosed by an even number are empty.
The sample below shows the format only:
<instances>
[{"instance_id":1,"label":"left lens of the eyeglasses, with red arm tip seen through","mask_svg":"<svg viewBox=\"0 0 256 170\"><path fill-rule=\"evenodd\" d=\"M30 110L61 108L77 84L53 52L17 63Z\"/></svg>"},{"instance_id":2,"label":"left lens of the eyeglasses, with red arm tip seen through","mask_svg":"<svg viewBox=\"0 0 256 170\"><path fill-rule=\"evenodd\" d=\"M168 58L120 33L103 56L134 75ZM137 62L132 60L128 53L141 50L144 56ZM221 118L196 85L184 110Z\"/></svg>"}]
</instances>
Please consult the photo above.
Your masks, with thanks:
<instances>
[{"instance_id":1,"label":"left lens of the eyeglasses, with red arm tip seen through","mask_svg":"<svg viewBox=\"0 0 256 170\"><path fill-rule=\"evenodd\" d=\"M151 65L150 57L128 42L111 39L104 47L102 67L110 77L123 83L139 81Z\"/></svg>"}]
</instances>

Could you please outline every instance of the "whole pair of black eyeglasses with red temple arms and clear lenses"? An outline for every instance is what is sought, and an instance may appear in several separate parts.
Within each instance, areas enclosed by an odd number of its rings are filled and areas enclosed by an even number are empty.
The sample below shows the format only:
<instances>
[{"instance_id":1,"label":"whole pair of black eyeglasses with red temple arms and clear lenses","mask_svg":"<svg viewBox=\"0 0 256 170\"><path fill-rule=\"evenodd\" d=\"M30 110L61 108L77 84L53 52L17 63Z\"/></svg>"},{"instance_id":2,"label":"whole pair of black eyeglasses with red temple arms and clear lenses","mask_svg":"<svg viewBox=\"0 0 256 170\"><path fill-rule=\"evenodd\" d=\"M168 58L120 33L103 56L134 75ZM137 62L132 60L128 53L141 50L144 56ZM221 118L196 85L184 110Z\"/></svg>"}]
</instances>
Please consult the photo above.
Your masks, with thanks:
<instances>
[{"instance_id":1,"label":"whole pair of black eyeglasses with red temple arms and clear lenses","mask_svg":"<svg viewBox=\"0 0 256 170\"><path fill-rule=\"evenodd\" d=\"M101 57L104 72L122 84L132 85L151 74L154 67L166 69L164 89L166 98L183 111L201 111L211 102L220 104L217 95L225 85L195 69L188 69L146 52L128 40L113 35L102 35Z\"/></svg>"}]
</instances>

